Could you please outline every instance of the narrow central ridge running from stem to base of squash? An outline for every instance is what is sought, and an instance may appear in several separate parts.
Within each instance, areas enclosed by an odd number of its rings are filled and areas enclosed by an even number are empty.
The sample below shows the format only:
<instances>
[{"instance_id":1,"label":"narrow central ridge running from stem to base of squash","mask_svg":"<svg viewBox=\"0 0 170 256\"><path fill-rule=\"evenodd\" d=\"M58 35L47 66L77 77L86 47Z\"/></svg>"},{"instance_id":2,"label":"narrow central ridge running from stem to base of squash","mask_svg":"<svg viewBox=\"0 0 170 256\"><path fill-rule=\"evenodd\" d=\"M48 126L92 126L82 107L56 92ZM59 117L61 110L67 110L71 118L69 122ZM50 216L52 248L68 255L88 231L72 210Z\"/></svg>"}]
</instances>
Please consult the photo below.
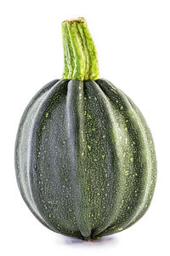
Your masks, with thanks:
<instances>
[{"instance_id":1,"label":"narrow central ridge running from stem to base of squash","mask_svg":"<svg viewBox=\"0 0 170 256\"><path fill-rule=\"evenodd\" d=\"M66 99L66 123L70 159L71 180L75 194L76 221L82 236L89 238L91 223L88 204L88 170L86 168L86 140L84 130L83 82L71 80Z\"/></svg>"}]
</instances>

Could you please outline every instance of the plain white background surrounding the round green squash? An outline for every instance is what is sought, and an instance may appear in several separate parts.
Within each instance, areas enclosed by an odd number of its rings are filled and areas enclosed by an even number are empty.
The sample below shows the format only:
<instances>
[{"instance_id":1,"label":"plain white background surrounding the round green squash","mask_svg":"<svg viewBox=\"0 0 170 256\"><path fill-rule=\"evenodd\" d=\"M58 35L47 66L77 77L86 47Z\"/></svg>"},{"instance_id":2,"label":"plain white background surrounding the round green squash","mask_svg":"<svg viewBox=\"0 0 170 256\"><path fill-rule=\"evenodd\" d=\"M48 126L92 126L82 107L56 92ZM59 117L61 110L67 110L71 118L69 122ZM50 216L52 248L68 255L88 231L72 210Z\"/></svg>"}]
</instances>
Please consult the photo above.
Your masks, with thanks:
<instances>
[{"instance_id":1,"label":"plain white background surrounding the round green squash","mask_svg":"<svg viewBox=\"0 0 170 256\"><path fill-rule=\"evenodd\" d=\"M150 209L137 224L99 241L60 236L33 217L14 173L20 116L44 84L61 78L60 24L83 16L102 78L139 106L156 144L158 176ZM170 1L0 1L1 255L169 255Z\"/></svg>"}]
</instances>

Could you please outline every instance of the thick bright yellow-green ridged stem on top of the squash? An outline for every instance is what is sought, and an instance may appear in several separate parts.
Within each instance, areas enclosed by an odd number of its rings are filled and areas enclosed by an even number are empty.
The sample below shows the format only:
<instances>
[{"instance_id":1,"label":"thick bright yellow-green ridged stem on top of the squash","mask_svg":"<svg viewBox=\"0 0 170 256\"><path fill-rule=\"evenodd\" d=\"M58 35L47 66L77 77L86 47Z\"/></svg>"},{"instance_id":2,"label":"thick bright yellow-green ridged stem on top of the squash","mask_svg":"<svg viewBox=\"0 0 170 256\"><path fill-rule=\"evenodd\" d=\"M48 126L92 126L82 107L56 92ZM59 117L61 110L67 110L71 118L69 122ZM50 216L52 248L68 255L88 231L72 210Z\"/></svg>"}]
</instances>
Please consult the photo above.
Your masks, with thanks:
<instances>
[{"instance_id":1,"label":"thick bright yellow-green ridged stem on top of the squash","mask_svg":"<svg viewBox=\"0 0 170 256\"><path fill-rule=\"evenodd\" d=\"M65 20L62 23L64 48L63 79L99 79L99 67L94 40L86 20Z\"/></svg>"}]
</instances>

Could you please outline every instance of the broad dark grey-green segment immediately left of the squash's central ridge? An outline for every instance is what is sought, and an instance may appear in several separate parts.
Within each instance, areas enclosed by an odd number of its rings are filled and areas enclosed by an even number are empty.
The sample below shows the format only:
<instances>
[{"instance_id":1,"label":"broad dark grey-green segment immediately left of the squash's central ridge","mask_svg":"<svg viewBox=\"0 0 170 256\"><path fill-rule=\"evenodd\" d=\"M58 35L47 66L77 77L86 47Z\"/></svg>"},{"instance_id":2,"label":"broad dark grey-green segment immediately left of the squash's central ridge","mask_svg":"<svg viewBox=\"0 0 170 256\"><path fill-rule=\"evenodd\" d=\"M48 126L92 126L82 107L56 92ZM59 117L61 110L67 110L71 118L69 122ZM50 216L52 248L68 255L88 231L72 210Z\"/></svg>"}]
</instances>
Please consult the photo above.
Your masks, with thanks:
<instances>
[{"instance_id":1,"label":"broad dark grey-green segment immediately left of the squash's central ridge","mask_svg":"<svg viewBox=\"0 0 170 256\"><path fill-rule=\"evenodd\" d=\"M31 127L29 183L38 212L55 232L81 237L73 211L66 147L68 80L60 80L42 100ZM60 154L62 151L62 154Z\"/></svg>"}]
</instances>

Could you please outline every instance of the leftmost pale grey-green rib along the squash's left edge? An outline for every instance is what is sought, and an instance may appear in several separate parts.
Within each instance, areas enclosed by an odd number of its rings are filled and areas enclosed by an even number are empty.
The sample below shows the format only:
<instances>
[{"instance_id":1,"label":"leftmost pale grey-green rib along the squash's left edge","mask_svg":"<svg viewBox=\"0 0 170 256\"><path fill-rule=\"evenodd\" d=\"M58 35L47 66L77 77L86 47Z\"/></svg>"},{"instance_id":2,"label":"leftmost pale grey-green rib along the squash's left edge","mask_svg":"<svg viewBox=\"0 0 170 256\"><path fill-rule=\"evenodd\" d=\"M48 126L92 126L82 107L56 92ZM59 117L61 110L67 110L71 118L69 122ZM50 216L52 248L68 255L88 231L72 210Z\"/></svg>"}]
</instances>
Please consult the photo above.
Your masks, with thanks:
<instances>
[{"instance_id":1,"label":"leftmost pale grey-green rib along the squash's left edge","mask_svg":"<svg viewBox=\"0 0 170 256\"><path fill-rule=\"evenodd\" d=\"M37 211L37 207L31 197L31 188L29 182L29 148L30 148L30 133L31 126L34 121L34 117L37 113L37 109L42 102L42 99L48 94L48 91L59 81L59 79L54 80L46 84L37 94L31 99L31 102L26 107L25 112L20 120L20 125L17 133L16 143L15 143L15 171L20 193L26 201L26 205L30 208L31 212L44 224L41 214ZM48 227L48 226L47 226Z\"/></svg>"}]
</instances>

